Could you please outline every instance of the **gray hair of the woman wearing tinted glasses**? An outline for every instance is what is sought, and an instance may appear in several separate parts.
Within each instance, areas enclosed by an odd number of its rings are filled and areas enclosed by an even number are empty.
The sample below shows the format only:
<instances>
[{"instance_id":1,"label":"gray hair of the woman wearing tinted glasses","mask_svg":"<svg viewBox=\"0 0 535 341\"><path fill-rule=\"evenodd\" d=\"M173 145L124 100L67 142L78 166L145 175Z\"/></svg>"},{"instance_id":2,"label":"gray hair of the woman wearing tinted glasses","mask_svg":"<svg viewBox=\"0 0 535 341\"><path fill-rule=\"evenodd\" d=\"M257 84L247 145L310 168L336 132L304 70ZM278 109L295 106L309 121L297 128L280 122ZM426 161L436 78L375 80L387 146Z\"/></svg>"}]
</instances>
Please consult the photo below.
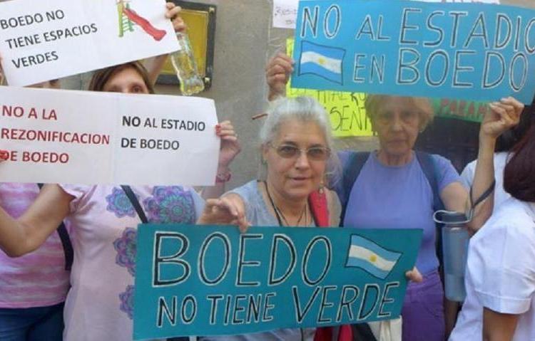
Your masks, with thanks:
<instances>
[{"instance_id":1,"label":"gray hair of the woman wearing tinted glasses","mask_svg":"<svg viewBox=\"0 0 535 341\"><path fill-rule=\"evenodd\" d=\"M266 112L267 120L260 128L260 143L263 146L275 139L284 122L289 120L313 122L322 130L327 144L326 147L331 151L330 158L327 161L327 177L332 179L332 175L339 172L340 160L335 150L330 120L325 107L318 103L317 100L307 96L278 98L270 103Z\"/></svg>"}]
</instances>

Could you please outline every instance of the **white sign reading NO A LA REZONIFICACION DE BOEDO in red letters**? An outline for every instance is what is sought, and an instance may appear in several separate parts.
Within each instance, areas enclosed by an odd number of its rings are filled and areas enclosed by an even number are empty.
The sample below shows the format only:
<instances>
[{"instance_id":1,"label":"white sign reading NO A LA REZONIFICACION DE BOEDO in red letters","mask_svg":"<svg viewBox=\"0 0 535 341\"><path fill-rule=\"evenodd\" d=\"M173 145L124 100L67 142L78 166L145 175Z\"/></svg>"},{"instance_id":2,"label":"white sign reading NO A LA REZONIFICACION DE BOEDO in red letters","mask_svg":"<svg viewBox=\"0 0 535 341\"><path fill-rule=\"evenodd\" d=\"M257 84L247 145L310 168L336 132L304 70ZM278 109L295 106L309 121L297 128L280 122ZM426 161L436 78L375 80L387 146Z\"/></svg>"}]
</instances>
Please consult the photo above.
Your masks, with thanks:
<instances>
[{"instance_id":1,"label":"white sign reading NO A LA REZONIFICACION DE BOEDO in red letters","mask_svg":"<svg viewBox=\"0 0 535 341\"><path fill-rule=\"evenodd\" d=\"M0 87L0 182L211 185L213 100Z\"/></svg>"}]
</instances>

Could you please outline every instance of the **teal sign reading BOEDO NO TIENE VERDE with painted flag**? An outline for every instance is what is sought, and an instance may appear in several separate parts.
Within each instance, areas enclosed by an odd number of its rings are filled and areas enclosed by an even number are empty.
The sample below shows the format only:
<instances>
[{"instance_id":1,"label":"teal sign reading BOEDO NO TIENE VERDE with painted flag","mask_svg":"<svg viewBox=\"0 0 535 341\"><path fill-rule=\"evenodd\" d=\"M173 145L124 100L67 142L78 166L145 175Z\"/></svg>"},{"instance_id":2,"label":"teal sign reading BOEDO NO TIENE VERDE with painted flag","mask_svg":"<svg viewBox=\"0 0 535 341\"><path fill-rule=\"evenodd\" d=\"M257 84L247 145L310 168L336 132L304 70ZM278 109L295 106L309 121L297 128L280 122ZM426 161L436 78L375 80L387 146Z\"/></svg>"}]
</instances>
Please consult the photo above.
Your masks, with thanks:
<instances>
[{"instance_id":1,"label":"teal sign reading BOEDO NO TIENE VERDE with painted flag","mask_svg":"<svg viewBox=\"0 0 535 341\"><path fill-rule=\"evenodd\" d=\"M134 339L397 318L421 238L422 230L140 226Z\"/></svg>"}]
</instances>

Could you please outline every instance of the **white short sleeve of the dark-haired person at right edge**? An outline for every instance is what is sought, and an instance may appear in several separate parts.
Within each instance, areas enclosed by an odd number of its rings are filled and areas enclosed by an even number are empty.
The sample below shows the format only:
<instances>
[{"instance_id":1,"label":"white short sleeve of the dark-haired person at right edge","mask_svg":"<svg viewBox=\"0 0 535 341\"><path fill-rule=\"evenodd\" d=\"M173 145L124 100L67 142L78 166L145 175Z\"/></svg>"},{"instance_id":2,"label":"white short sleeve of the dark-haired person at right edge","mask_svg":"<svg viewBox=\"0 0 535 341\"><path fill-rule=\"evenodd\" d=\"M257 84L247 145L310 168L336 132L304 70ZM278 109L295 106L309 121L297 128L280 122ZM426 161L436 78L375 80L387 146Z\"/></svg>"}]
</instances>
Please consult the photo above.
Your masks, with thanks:
<instances>
[{"instance_id":1,"label":"white short sleeve of the dark-haired person at right edge","mask_svg":"<svg viewBox=\"0 0 535 341\"><path fill-rule=\"evenodd\" d=\"M470 245L467 272L481 305L498 313L529 310L535 293L535 231L496 219ZM533 226L528 226L533 229ZM484 229L487 229L484 231Z\"/></svg>"}]
</instances>

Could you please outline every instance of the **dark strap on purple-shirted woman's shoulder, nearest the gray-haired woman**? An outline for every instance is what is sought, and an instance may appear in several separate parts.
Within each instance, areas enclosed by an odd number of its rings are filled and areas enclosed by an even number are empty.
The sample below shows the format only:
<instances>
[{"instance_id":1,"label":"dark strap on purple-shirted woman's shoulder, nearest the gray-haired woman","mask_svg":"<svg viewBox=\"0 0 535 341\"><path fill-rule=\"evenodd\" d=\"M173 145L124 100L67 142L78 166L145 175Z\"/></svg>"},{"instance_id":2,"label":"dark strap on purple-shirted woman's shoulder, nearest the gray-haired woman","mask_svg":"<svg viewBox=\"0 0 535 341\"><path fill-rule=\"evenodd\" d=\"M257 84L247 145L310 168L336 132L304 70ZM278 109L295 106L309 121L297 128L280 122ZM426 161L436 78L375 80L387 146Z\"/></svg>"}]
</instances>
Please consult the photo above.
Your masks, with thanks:
<instances>
[{"instance_id":1,"label":"dark strap on purple-shirted woman's shoulder, nearest the gray-haired woman","mask_svg":"<svg viewBox=\"0 0 535 341\"><path fill-rule=\"evenodd\" d=\"M350 200L351 190L355 186L355 181L357 181L357 177L359 177L368 157L370 157L370 152L350 152L349 159L344 169L342 169L342 179L340 179L336 188L336 192L340 198L340 204L342 204L340 226L344 224L345 210L347 208L347 201Z\"/></svg>"}]
</instances>

